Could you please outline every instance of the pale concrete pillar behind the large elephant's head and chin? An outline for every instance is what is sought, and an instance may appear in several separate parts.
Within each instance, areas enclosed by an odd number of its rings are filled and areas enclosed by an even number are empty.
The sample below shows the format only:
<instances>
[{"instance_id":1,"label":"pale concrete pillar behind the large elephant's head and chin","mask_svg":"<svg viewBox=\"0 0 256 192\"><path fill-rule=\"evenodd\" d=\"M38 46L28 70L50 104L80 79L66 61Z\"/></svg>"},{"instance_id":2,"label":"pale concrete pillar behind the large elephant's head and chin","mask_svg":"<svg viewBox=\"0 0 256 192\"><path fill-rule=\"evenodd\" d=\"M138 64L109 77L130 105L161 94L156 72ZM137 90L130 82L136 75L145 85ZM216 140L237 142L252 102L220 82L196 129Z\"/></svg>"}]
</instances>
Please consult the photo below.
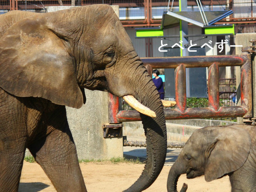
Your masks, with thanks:
<instances>
[{"instance_id":1,"label":"pale concrete pillar behind the large elephant's head and chin","mask_svg":"<svg viewBox=\"0 0 256 192\"><path fill-rule=\"evenodd\" d=\"M112 6L119 16L119 6ZM71 8L70 6L47 7L46 12ZM78 159L110 159L123 157L123 138L104 138L104 123L108 123L108 93L85 90L86 104L81 109L66 107L67 119L72 132Z\"/></svg>"}]
</instances>

